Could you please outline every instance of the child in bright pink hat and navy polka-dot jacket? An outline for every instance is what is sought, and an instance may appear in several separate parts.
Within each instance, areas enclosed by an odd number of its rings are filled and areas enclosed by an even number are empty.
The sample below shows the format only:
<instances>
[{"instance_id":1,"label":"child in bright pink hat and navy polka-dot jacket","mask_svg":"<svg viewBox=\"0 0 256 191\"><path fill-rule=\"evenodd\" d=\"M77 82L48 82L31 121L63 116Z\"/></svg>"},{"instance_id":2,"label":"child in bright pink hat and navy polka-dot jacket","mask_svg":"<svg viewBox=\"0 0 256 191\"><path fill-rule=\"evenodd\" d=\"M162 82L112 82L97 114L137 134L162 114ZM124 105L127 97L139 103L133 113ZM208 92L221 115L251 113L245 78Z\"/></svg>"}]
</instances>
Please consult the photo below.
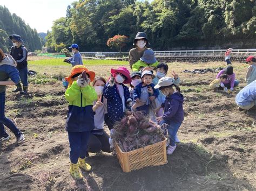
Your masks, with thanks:
<instances>
[{"instance_id":1,"label":"child in bright pink hat and navy polka-dot jacket","mask_svg":"<svg viewBox=\"0 0 256 191\"><path fill-rule=\"evenodd\" d=\"M107 99L105 123L110 130L124 117L126 108L132 105L129 89L124 85L131 83L129 70L125 67L112 68L111 76L103 89L103 96Z\"/></svg>"}]
</instances>

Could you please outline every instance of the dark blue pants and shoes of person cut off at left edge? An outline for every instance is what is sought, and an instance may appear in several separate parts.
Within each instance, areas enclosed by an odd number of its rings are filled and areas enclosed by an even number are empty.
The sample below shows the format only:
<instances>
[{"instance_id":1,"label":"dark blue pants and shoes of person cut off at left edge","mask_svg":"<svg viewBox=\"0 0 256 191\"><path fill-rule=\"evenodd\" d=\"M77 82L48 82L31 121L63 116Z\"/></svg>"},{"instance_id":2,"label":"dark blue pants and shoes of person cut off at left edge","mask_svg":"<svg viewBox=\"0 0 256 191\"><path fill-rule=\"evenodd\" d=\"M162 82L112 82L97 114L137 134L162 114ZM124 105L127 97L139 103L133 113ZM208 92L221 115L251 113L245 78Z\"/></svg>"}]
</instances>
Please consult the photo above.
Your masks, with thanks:
<instances>
[{"instance_id":1,"label":"dark blue pants and shoes of person cut off at left edge","mask_svg":"<svg viewBox=\"0 0 256 191\"><path fill-rule=\"evenodd\" d=\"M8 136L8 133L6 133L4 129L4 125L7 128L9 128L16 137L18 137L21 131L18 130L16 125L10 119L5 117L4 109L5 109L5 93L0 93L0 138Z\"/></svg>"}]
</instances>

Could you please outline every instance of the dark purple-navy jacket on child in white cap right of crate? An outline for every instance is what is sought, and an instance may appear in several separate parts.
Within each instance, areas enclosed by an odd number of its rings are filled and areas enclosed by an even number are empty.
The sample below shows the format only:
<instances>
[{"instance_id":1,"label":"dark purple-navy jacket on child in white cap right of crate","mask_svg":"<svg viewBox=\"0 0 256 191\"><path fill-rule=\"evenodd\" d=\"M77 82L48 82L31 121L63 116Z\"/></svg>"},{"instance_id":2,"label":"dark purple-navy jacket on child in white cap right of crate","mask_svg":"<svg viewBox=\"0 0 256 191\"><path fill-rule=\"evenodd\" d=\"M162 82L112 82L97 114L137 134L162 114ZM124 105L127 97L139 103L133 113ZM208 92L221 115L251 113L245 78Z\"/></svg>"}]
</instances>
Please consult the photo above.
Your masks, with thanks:
<instances>
[{"instance_id":1,"label":"dark purple-navy jacket on child in white cap right of crate","mask_svg":"<svg viewBox=\"0 0 256 191\"><path fill-rule=\"evenodd\" d=\"M165 102L162 104L162 107L164 107L164 121L167 123L183 122L183 101L183 95L178 92L175 92L171 96L165 98Z\"/></svg>"}]
</instances>

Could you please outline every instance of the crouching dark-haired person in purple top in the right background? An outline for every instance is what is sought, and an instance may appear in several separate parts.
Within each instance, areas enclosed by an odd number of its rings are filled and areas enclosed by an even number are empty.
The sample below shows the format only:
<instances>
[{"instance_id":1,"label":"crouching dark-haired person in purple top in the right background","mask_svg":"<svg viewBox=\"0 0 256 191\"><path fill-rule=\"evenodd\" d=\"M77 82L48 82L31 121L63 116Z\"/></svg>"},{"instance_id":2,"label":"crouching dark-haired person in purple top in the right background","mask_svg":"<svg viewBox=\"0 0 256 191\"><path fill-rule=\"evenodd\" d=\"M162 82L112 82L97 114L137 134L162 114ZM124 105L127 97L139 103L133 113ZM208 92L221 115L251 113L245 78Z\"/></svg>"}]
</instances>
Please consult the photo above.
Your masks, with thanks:
<instances>
[{"instance_id":1,"label":"crouching dark-haired person in purple top in the right background","mask_svg":"<svg viewBox=\"0 0 256 191\"><path fill-rule=\"evenodd\" d=\"M230 89L231 91L233 91L234 87L237 87L239 84L239 81L235 80L235 73L233 72L233 66L227 65L227 67L225 69L220 70L216 79L219 79L221 74L227 75L227 79L223 82L224 86L227 89Z\"/></svg>"}]
</instances>

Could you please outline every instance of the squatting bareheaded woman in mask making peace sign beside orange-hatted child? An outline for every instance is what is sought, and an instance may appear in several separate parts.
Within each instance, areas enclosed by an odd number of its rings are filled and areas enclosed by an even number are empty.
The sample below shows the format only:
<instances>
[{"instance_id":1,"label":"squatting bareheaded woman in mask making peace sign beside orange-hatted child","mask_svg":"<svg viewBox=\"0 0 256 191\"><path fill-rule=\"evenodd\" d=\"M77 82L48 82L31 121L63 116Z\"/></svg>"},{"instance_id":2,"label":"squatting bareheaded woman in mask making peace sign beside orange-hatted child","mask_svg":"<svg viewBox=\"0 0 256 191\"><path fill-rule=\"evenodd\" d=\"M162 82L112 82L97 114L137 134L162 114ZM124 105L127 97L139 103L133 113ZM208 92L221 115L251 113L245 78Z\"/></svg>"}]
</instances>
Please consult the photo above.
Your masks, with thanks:
<instances>
[{"instance_id":1,"label":"squatting bareheaded woman in mask making peace sign beside orange-hatted child","mask_svg":"<svg viewBox=\"0 0 256 191\"><path fill-rule=\"evenodd\" d=\"M98 101L93 102L92 110L95 111L94 126L88 142L87 151L96 153L104 151L110 153L109 135L104 131L104 116L107 114L107 100L102 96L106 80L103 77L96 77L92 86L98 95Z\"/></svg>"}]
</instances>

